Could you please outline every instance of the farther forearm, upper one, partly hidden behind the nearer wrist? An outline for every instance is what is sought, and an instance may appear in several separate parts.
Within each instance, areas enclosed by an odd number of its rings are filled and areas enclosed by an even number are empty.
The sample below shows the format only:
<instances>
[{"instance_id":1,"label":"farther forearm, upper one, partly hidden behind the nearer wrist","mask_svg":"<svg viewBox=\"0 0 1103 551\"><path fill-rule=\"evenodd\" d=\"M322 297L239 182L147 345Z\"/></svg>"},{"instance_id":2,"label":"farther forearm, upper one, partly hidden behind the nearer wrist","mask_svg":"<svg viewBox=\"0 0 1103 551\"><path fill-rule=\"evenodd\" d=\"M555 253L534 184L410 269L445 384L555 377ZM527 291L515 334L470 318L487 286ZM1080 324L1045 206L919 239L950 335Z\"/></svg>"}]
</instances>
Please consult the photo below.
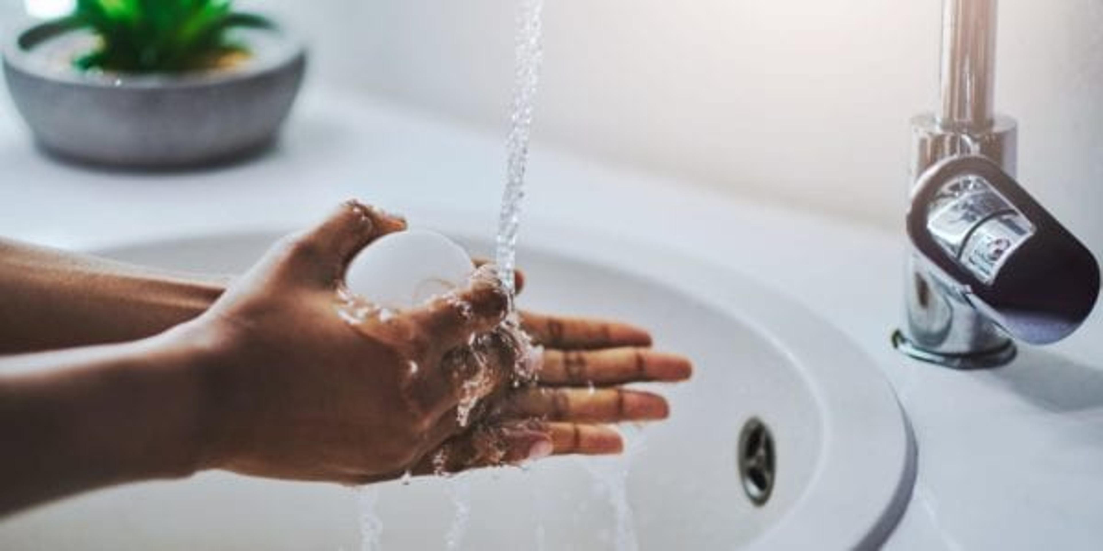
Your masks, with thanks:
<instances>
[{"instance_id":1,"label":"farther forearm, upper one, partly hidden behind the nearer wrist","mask_svg":"<svg viewBox=\"0 0 1103 551\"><path fill-rule=\"evenodd\" d=\"M226 281L0 240L0 355L154 335L206 310Z\"/></svg>"}]
</instances>

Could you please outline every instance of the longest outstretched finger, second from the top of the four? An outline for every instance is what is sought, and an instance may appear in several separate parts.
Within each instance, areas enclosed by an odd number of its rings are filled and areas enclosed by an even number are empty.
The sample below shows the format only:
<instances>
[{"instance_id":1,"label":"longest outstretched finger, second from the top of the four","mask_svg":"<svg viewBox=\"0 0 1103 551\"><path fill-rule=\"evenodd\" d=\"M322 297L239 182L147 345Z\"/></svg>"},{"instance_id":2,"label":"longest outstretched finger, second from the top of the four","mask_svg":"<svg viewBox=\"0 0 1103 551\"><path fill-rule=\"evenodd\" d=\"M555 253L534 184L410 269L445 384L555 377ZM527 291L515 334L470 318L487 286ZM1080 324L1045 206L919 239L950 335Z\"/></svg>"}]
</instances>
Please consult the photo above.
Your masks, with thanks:
<instances>
[{"instance_id":1,"label":"longest outstretched finger, second from the top of the four","mask_svg":"<svg viewBox=\"0 0 1103 551\"><path fill-rule=\"evenodd\" d=\"M688 379L693 365L674 354L649 348L604 350L546 349L537 378L540 385L585 386Z\"/></svg>"}]
</instances>

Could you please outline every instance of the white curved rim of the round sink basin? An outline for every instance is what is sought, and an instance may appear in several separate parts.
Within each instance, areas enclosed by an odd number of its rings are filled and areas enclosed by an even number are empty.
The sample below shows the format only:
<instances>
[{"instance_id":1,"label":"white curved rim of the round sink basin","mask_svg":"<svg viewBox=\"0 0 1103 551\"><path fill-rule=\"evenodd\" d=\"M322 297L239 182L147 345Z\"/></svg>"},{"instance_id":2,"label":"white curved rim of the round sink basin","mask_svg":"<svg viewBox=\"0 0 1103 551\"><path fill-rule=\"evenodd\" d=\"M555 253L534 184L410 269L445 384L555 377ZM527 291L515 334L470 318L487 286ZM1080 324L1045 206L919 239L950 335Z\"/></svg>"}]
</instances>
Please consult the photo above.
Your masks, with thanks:
<instances>
[{"instance_id":1,"label":"white curved rim of the round sink basin","mask_svg":"<svg viewBox=\"0 0 1103 551\"><path fill-rule=\"evenodd\" d=\"M430 227L446 235L486 240L481 237L486 228L475 217L446 210L426 219L432 219L435 224ZM227 236L276 237L287 231L286 226L251 226L157 233L99 241L82 250L97 252ZM532 249L670 287L743 323L783 354L802 375L821 413L824 434L821 458L801 497L751 541L749 549L869 549L879 547L891 534L907 508L915 479L914 435L885 375L840 329L768 283L707 259L559 224L529 222L524 234L520 266L524 266L524 250ZM711 292L705 293L704 289ZM799 334L801 338L786 338L786 333ZM876 462L878 468L874 469L868 468L869 442L878 442L876 450L892 454ZM864 491L856 496L852 480L859 476L866 483ZM839 515L840 510L847 512ZM789 526L801 529L786 529Z\"/></svg>"}]
</instances>

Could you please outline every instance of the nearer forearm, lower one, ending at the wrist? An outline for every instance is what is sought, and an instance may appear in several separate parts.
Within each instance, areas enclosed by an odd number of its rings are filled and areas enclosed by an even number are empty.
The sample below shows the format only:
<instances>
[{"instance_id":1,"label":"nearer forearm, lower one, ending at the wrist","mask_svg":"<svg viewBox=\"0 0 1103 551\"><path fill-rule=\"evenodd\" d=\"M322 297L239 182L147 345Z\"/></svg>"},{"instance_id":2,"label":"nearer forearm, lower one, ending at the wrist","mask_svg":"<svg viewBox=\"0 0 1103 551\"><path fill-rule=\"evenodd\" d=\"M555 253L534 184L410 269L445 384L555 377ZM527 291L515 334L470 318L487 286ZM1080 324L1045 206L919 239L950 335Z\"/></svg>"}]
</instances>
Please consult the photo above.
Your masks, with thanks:
<instances>
[{"instance_id":1,"label":"nearer forearm, lower one, ending at the wrist","mask_svg":"<svg viewBox=\"0 0 1103 551\"><path fill-rule=\"evenodd\" d=\"M0 516L193 473L204 426L196 357L162 335L0 358Z\"/></svg>"}]
</instances>

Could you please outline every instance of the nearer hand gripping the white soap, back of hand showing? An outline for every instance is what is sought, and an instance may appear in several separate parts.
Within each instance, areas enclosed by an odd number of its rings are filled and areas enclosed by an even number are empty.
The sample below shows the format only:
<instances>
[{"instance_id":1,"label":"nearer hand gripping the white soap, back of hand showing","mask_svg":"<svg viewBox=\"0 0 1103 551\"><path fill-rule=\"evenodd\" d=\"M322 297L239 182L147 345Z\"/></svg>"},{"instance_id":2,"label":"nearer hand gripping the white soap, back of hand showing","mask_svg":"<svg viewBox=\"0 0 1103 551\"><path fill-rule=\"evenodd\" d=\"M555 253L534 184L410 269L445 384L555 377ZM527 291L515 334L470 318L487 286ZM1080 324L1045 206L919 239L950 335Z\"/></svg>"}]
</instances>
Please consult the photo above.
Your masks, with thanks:
<instances>
[{"instance_id":1,"label":"nearer hand gripping the white soap, back of hand showing","mask_svg":"<svg viewBox=\"0 0 1103 551\"><path fill-rule=\"evenodd\" d=\"M173 329L203 350L203 466L358 484L400 475L460 430L457 407L470 386L454 350L504 318L508 298L496 280L474 278L453 296L392 316L339 314L349 306L346 263L404 228L345 205L283 239L203 315ZM495 358L512 367L511 354ZM539 431L506 439L524 455L552 446Z\"/></svg>"}]
</instances>

